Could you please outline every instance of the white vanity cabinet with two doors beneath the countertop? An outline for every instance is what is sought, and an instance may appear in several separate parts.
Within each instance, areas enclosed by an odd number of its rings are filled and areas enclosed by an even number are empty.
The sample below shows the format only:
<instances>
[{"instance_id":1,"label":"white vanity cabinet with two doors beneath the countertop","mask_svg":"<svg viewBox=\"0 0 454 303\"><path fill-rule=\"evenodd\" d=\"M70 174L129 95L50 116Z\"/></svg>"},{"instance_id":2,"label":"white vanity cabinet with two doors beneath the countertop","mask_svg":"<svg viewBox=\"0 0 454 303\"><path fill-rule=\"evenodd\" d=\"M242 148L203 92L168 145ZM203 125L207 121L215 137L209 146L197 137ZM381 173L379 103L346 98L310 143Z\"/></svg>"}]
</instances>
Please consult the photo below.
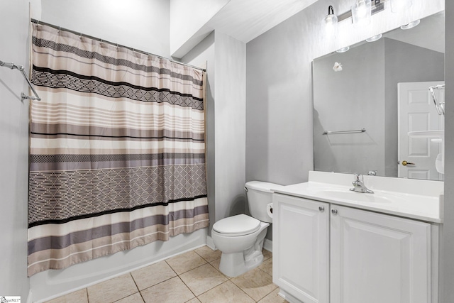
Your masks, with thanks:
<instances>
[{"instance_id":1,"label":"white vanity cabinet with two doors beneath the countertop","mask_svg":"<svg viewBox=\"0 0 454 303\"><path fill-rule=\"evenodd\" d=\"M289 302L428 303L431 224L273 194L273 282Z\"/></svg>"}]
</instances>

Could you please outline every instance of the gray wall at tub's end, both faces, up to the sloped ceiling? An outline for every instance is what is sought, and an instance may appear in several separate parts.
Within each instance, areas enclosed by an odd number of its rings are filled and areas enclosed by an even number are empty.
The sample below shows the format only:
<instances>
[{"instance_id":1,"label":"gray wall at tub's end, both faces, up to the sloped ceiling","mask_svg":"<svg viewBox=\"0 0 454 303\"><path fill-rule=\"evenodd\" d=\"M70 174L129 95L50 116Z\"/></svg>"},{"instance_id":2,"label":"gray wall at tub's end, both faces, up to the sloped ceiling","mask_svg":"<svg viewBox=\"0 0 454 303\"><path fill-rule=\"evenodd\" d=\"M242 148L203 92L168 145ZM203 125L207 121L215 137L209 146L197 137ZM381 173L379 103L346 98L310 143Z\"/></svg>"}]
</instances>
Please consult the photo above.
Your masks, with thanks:
<instances>
[{"instance_id":1,"label":"gray wall at tub's end, both faces, up to the sloped ceiling","mask_svg":"<svg viewBox=\"0 0 454 303\"><path fill-rule=\"evenodd\" d=\"M207 62L206 148L209 216L245 211L245 43L213 32L182 58Z\"/></svg>"}]
</instances>

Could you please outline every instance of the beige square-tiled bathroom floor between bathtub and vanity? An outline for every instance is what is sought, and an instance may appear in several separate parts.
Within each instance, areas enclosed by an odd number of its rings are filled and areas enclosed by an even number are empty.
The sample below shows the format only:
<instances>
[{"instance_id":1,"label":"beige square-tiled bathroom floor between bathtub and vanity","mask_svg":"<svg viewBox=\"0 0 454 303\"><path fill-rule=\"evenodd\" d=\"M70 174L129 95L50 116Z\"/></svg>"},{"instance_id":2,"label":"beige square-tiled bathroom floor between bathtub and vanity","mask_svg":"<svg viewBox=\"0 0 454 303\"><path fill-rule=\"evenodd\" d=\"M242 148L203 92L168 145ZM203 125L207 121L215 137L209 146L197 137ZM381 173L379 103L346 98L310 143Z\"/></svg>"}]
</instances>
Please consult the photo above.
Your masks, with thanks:
<instances>
[{"instance_id":1,"label":"beige square-tiled bathroom floor between bathtub and vanity","mask_svg":"<svg viewBox=\"0 0 454 303\"><path fill-rule=\"evenodd\" d=\"M219 270L221 252L208 246L72 292L48 303L284 303L272 283L272 253L238 277Z\"/></svg>"}]
</instances>

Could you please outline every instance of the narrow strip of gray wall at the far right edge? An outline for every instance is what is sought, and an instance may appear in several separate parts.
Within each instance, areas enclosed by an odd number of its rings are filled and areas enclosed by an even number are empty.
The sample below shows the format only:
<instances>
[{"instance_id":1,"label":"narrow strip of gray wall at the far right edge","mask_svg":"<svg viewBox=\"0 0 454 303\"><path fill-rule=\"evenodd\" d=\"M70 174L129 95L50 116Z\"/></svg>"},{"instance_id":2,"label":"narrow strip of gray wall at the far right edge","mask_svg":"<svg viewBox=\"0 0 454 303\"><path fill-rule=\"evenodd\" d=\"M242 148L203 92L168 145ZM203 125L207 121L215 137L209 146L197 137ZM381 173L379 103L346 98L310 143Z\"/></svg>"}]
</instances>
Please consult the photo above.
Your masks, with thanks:
<instances>
[{"instance_id":1,"label":"narrow strip of gray wall at the far right edge","mask_svg":"<svg viewBox=\"0 0 454 303\"><path fill-rule=\"evenodd\" d=\"M454 302L454 1L445 1L445 218L443 224L440 302Z\"/></svg>"}]
</instances>

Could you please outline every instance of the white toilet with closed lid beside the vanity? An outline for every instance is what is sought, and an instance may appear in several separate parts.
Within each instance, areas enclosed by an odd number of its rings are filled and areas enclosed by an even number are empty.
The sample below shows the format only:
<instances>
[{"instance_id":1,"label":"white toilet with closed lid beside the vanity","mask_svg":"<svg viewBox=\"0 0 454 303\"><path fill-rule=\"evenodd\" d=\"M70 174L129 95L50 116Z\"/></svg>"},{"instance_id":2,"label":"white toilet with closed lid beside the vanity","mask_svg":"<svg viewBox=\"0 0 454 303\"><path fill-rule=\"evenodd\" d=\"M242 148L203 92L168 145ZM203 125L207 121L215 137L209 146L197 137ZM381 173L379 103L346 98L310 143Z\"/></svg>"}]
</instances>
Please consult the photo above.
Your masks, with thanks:
<instances>
[{"instance_id":1,"label":"white toilet with closed lid beside the vanity","mask_svg":"<svg viewBox=\"0 0 454 303\"><path fill-rule=\"evenodd\" d=\"M263 241L272 216L267 205L272 203L271 189L281 185L251 181L245 184L251 216L238 214L217 221L211 230L211 238L221 250L219 270L224 275L236 277L262 263Z\"/></svg>"}]
</instances>

